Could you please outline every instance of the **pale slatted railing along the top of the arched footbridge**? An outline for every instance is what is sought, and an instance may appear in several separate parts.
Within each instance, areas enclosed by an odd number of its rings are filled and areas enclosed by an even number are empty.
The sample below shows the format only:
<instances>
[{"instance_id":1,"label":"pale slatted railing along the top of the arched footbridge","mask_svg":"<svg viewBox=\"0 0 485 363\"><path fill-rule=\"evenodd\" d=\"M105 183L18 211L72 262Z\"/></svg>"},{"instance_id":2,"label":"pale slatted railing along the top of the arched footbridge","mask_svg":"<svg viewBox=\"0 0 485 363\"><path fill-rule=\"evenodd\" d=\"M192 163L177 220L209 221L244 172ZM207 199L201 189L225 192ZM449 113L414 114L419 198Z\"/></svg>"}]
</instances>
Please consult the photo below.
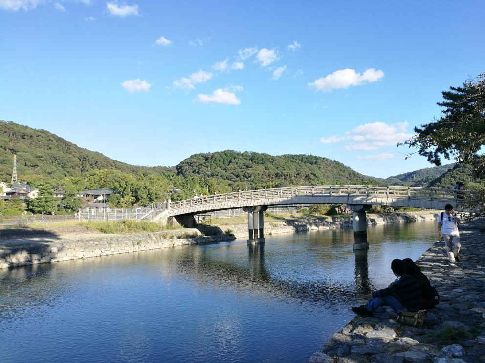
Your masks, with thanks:
<instances>
[{"instance_id":1,"label":"pale slatted railing along the top of the arched footbridge","mask_svg":"<svg viewBox=\"0 0 485 363\"><path fill-rule=\"evenodd\" d=\"M170 203L170 208L197 206L205 203L234 202L268 198L292 198L299 196L337 196L352 195L382 198L413 198L433 201L455 202L459 204L463 191L441 188L420 188L375 185L317 185L273 189L248 190L186 199Z\"/></svg>"}]
</instances>

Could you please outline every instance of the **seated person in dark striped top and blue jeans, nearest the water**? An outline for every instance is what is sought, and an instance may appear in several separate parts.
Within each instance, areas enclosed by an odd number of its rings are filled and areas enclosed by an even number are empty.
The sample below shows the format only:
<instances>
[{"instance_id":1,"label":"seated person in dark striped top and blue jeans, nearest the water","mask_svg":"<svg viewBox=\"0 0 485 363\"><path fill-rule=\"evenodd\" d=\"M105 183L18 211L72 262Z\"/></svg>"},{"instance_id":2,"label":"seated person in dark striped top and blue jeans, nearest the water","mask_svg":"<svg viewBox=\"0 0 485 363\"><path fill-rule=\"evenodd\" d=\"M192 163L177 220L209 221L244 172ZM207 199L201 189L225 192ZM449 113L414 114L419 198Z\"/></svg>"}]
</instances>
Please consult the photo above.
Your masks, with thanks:
<instances>
[{"instance_id":1,"label":"seated person in dark striped top and blue jeans, nearest the water","mask_svg":"<svg viewBox=\"0 0 485 363\"><path fill-rule=\"evenodd\" d=\"M418 282L409 275L402 260L394 259L391 269L397 277L388 287L372 292L367 304L353 306L352 311L362 316L373 316L379 307L390 306L396 314L398 310L418 311L421 308L421 289Z\"/></svg>"}]
</instances>

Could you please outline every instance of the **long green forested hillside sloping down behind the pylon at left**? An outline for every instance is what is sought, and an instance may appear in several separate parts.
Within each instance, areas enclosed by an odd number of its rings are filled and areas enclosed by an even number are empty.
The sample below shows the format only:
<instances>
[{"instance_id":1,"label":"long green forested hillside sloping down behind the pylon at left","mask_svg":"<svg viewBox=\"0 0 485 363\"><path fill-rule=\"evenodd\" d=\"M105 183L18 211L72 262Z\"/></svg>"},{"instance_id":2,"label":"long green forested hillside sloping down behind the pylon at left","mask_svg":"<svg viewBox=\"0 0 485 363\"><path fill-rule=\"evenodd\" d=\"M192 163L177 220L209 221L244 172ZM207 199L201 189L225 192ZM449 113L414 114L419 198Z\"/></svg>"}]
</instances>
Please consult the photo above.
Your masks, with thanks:
<instances>
[{"instance_id":1,"label":"long green forested hillside sloping down behind the pylon at left","mask_svg":"<svg viewBox=\"0 0 485 363\"><path fill-rule=\"evenodd\" d=\"M0 181L9 181L12 176L13 154L17 154L17 173L27 179L40 176L61 180L93 169L115 168L133 174L159 174L170 170L132 166L78 147L48 131L0 120Z\"/></svg>"}]
</instances>

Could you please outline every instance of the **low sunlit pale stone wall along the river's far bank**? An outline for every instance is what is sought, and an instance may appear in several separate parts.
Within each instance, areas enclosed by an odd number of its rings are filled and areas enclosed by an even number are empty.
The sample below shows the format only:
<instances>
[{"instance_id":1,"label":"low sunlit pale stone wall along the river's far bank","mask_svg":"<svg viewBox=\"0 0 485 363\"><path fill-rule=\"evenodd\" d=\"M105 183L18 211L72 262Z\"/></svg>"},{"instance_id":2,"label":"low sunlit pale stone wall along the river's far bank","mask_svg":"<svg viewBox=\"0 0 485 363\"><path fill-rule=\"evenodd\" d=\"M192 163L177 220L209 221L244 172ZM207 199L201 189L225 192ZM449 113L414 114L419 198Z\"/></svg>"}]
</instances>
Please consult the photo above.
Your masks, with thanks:
<instances>
[{"instance_id":1,"label":"low sunlit pale stone wall along the river's far bank","mask_svg":"<svg viewBox=\"0 0 485 363\"><path fill-rule=\"evenodd\" d=\"M369 214L368 225L416 222L436 219L435 212ZM265 222L265 235L352 227L352 217L302 217L295 220ZM14 238L0 241L0 268L26 266L121 253L147 251L199 243L247 238L247 224L144 233L135 235L90 235L78 238L49 236Z\"/></svg>"}]
</instances>

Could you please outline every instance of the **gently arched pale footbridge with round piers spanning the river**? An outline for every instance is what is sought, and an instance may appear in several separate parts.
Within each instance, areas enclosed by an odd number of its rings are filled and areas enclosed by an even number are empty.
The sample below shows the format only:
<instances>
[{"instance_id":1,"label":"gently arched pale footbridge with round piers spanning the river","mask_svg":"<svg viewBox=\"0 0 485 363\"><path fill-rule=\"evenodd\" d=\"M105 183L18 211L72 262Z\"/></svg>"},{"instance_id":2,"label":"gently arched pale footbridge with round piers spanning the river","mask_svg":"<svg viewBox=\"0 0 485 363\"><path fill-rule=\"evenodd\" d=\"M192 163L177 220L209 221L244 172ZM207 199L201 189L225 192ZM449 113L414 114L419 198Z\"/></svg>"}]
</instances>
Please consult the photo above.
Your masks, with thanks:
<instances>
[{"instance_id":1,"label":"gently arched pale footbridge with round piers spanning the river","mask_svg":"<svg viewBox=\"0 0 485 363\"><path fill-rule=\"evenodd\" d=\"M346 204L353 211L354 249L368 248L365 212L373 205L443 210L452 204L463 211L463 190L375 185L318 185L248 190L162 203L146 216L157 221L174 217L186 227L194 215L243 208L248 213L248 243L264 242L263 212L271 205ZM144 217L147 219L147 217Z\"/></svg>"}]
</instances>

